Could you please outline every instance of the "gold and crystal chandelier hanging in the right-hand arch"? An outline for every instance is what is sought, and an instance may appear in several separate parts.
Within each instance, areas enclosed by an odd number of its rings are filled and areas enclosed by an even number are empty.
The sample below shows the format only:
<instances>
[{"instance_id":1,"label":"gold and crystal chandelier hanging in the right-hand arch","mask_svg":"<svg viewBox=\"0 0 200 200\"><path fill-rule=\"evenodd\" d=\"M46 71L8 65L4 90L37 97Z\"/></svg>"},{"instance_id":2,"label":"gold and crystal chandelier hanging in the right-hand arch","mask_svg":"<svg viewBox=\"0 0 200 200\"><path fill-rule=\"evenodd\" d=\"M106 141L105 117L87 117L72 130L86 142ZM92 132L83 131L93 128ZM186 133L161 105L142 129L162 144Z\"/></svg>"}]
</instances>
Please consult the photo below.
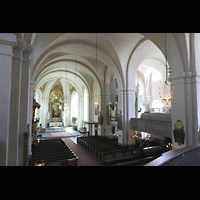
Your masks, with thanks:
<instances>
[{"instance_id":1,"label":"gold and crystal chandelier hanging in the right-hand arch","mask_svg":"<svg viewBox=\"0 0 200 200\"><path fill-rule=\"evenodd\" d=\"M171 68L167 64L167 43L166 43L166 33L165 33L165 60L166 60L166 80L162 87L159 87L159 95L162 101L165 103L165 106L167 107L167 112L169 111L169 107L171 106L171 101L174 97L174 91L173 88L170 85L170 82L168 81L168 78L171 75Z\"/></svg>"}]
</instances>

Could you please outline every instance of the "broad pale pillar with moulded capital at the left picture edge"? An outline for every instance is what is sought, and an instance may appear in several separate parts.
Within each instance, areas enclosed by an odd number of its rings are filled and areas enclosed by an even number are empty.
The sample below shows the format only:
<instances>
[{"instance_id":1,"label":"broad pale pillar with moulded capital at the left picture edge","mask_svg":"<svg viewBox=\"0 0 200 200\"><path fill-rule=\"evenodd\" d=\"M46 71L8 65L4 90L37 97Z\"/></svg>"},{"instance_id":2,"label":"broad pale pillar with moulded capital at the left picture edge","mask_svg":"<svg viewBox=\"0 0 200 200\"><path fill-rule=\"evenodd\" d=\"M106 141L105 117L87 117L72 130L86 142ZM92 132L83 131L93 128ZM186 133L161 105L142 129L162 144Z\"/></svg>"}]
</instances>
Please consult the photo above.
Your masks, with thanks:
<instances>
[{"instance_id":1,"label":"broad pale pillar with moulded capital at the left picture edge","mask_svg":"<svg viewBox=\"0 0 200 200\"><path fill-rule=\"evenodd\" d=\"M12 56L16 36L0 33L0 166L8 165Z\"/></svg>"}]
</instances>

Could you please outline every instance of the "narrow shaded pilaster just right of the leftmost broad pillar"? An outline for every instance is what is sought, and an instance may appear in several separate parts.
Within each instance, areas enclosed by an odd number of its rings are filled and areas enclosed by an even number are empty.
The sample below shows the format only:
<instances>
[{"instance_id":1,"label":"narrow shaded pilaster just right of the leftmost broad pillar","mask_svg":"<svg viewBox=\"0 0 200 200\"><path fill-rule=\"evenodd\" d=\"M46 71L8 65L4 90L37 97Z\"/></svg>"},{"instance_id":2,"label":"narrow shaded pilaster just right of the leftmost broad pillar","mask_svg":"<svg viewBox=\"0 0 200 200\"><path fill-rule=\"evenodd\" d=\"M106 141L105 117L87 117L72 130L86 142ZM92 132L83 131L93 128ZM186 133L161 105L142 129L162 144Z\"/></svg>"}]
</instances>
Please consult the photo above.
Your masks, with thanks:
<instances>
[{"instance_id":1,"label":"narrow shaded pilaster just right of the leftmost broad pillar","mask_svg":"<svg viewBox=\"0 0 200 200\"><path fill-rule=\"evenodd\" d=\"M10 127L9 127L9 151L8 165L17 164L18 157L18 138L20 123L20 97L21 97L21 71L22 71L22 52L25 48L25 41L17 40L14 48L12 82L11 82L11 103L10 103Z\"/></svg>"}]
</instances>

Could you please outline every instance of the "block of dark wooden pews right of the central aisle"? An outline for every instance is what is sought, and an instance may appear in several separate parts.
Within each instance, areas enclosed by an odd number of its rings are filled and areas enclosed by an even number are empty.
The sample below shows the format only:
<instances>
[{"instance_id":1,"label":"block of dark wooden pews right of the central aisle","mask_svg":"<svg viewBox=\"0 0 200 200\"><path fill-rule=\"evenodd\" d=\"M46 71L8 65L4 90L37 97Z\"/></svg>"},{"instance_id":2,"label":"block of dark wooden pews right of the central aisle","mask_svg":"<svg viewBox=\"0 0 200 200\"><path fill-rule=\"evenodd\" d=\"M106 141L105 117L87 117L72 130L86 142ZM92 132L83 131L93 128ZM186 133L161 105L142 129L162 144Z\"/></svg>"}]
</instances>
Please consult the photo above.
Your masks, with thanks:
<instances>
[{"instance_id":1,"label":"block of dark wooden pews right of the central aisle","mask_svg":"<svg viewBox=\"0 0 200 200\"><path fill-rule=\"evenodd\" d=\"M144 165L162 153L159 146L138 148L136 145L120 145L117 140L104 136L78 137L77 144L104 165Z\"/></svg>"}]
</instances>

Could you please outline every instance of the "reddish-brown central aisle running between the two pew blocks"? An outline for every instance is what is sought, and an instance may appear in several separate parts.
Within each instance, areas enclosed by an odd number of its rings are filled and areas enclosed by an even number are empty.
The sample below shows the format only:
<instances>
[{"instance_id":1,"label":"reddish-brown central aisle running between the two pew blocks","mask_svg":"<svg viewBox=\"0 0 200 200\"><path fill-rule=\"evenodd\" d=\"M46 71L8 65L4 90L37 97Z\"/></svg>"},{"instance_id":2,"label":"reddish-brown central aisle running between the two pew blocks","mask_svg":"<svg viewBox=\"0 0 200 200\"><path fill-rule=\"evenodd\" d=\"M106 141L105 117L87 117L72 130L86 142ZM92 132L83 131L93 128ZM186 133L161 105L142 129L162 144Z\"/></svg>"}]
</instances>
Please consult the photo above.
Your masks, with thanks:
<instances>
[{"instance_id":1,"label":"reddish-brown central aisle running between the two pew blocks","mask_svg":"<svg viewBox=\"0 0 200 200\"><path fill-rule=\"evenodd\" d=\"M103 166L92 155L86 152L78 144L74 143L70 138L62 138L66 145L76 154L78 157L79 166Z\"/></svg>"}]
</instances>

